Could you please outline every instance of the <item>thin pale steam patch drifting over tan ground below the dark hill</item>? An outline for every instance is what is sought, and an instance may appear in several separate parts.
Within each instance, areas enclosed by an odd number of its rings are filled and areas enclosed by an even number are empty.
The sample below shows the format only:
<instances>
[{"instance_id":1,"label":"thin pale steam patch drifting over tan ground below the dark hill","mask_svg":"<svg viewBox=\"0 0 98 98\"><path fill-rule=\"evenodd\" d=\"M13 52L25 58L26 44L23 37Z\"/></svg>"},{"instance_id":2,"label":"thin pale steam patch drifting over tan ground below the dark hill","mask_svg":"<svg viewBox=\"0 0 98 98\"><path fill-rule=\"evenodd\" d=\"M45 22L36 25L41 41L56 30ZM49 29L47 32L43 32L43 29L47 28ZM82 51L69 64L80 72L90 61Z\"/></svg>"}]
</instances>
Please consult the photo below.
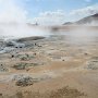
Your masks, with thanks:
<instances>
[{"instance_id":1,"label":"thin pale steam patch drifting over tan ground below the dark hill","mask_svg":"<svg viewBox=\"0 0 98 98\"><path fill-rule=\"evenodd\" d=\"M90 26L77 26L77 28L70 30L65 34L65 41L71 45L91 45L96 44L98 38L98 33L96 27Z\"/></svg>"}]
</instances>

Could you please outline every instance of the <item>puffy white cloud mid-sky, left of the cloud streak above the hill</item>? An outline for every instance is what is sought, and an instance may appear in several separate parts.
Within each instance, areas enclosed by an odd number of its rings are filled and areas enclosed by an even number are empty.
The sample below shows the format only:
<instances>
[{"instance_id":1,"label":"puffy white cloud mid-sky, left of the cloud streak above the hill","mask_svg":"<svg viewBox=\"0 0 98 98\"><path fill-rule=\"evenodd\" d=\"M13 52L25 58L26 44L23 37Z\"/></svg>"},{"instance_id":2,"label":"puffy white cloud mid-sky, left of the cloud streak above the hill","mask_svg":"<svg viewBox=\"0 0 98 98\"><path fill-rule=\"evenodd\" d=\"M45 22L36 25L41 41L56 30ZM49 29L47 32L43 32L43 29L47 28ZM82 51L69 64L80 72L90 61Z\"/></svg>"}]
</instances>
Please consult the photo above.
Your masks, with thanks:
<instances>
[{"instance_id":1,"label":"puffy white cloud mid-sky, left of the cloud streak above the hill","mask_svg":"<svg viewBox=\"0 0 98 98\"><path fill-rule=\"evenodd\" d=\"M38 22L39 24L54 25L54 24L63 23L64 19L65 19L65 12L62 10L57 10L57 11L41 12L39 13L38 17L35 17L30 21L34 23Z\"/></svg>"}]
</instances>

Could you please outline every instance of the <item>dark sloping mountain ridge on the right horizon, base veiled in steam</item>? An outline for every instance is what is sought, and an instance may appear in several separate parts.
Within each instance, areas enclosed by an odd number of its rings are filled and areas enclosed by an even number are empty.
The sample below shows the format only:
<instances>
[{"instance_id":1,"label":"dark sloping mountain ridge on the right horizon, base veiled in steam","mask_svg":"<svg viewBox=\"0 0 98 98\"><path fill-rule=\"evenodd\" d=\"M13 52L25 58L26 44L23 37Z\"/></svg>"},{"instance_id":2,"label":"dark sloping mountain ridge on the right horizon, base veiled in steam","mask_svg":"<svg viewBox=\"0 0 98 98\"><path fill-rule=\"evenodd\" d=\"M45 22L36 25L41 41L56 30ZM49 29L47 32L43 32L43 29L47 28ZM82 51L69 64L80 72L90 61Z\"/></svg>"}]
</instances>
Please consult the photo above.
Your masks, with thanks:
<instances>
[{"instance_id":1,"label":"dark sloping mountain ridge on the right horizon, base veiled in steam","mask_svg":"<svg viewBox=\"0 0 98 98\"><path fill-rule=\"evenodd\" d=\"M98 25L98 13L97 14L94 14L94 15L90 15L90 16L86 16L79 21L76 21L74 23L72 22L66 22L64 23L63 25L90 25L90 24L97 24Z\"/></svg>"}]
</instances>

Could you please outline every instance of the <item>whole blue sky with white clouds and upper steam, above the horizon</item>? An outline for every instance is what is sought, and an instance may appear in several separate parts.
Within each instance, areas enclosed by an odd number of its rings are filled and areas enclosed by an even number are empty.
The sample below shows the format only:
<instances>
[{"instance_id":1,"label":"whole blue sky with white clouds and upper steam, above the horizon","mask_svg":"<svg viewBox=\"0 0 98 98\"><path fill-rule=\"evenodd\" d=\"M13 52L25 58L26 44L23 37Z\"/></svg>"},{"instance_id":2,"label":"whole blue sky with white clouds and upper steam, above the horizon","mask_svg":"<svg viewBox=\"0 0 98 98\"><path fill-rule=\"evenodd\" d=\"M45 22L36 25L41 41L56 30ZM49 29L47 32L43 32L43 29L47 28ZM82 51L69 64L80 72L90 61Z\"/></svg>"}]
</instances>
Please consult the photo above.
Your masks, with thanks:
<instances>
[{"instance_id":1,"label":"whole blue sky with white clouds and upper steam, above the horizon","mask_svg":"<svg viewBox=\"0 0 98 98\"><path fill-rule=\"evenodd\" d=\"M98 13L98 0L0 0L0 22L58 25Z\"/></svg>"}]
</instances>

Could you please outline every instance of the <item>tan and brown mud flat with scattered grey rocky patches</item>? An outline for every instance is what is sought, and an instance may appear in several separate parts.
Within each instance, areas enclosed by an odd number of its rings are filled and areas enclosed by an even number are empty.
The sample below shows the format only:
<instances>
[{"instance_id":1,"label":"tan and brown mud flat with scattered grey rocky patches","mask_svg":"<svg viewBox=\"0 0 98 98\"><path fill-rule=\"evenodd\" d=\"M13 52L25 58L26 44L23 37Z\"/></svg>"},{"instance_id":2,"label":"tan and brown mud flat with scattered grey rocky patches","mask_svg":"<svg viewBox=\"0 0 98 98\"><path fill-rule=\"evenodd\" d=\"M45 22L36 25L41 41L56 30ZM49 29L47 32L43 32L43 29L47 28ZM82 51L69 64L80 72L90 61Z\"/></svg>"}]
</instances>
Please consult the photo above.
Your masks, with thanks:
<instances>
[{"instance_id":1,"label":"tan and brown mud flat with scattered grey rocky patches","mask_svg":"<svg viewBox=\"0 0 98 98\"><path fill-rule=\"evenodd\" d=\"M36 38L0 53L0 98L98 98L96 35Z\"/></svg>"}]
</instances>

